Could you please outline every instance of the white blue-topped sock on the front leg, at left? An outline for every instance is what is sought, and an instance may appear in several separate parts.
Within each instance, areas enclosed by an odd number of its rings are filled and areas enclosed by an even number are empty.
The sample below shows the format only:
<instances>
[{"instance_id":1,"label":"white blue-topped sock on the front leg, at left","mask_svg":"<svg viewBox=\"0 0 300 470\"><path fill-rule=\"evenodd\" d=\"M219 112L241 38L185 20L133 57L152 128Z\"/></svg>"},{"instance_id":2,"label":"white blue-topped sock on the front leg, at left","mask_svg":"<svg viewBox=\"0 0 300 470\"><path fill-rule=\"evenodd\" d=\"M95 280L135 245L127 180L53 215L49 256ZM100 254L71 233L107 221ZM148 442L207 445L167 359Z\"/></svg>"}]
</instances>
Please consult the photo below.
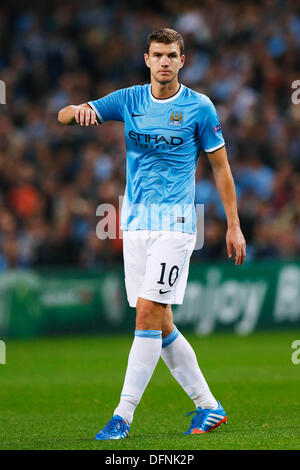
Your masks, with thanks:
<instances>
[{"instance_id":1,"label":"white blue-topped sock on the front leg, at left","mask_svg":"<svg viewBox=\"0 0 300 470\"><path fill-rule=\"evenodd\" d=\"M114 415L121 416L129 425L160 358L161 346L160 330L135 331L120 403L114 411Z\"/></svg>"}]
</instances>

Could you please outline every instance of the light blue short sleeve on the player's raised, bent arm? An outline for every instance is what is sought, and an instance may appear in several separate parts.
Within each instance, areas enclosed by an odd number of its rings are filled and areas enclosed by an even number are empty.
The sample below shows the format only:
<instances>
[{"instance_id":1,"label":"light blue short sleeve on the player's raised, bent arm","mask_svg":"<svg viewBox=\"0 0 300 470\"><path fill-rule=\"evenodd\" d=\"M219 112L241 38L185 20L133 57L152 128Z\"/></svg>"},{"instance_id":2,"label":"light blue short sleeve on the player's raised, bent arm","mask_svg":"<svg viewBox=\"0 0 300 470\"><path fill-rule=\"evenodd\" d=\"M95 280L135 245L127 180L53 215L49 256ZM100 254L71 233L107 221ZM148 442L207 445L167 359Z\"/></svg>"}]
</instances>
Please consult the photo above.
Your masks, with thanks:
<instances>
[{"instance_id":1,"label":"light blue short sleeve on the player's raised, bent arm","mask_svg":"<svg viewBox=\"0 0 300 470\"><path fill-rule=\"evenodd\" d=\"M100 123L105 121L124 121L124 105L127 98L127 88L113 91L98 100L88 101Z\"/></svg>"}]
</instances>

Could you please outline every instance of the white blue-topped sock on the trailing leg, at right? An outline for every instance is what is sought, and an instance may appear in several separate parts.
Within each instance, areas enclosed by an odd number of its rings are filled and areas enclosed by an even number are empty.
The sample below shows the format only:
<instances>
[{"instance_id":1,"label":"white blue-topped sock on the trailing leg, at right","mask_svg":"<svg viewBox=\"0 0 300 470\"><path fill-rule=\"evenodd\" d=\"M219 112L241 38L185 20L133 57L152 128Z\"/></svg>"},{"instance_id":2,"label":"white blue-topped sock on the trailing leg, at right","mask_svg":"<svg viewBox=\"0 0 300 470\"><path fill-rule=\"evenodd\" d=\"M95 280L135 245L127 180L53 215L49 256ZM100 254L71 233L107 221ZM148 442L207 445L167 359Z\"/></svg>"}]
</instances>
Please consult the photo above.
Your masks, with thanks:
<instances>
[{"instance_id":1,"label":"white blue-topped sock on the trailing leg, at right","mask_svg":"<svg viewBox=\"0 0 300 470\"><path fill-rule=\"evenodd\" d=\"M196 354L179 333L176 326L171 334L162 340L161 357L183 390L195 403L196 408L218 408L205 378L199 368Z\"/></svg>"}]
</instances>

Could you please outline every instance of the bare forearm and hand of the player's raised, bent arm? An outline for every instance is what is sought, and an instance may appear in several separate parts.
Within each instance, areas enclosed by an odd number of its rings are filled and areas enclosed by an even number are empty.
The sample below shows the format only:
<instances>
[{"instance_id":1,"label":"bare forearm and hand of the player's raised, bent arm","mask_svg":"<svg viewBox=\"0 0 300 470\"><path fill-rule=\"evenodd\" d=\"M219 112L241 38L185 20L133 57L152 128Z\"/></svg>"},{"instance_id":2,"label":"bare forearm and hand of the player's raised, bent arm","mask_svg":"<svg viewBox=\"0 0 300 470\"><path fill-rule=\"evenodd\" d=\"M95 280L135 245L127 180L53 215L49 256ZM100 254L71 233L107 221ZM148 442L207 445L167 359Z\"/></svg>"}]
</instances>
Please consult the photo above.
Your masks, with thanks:
<instances>
[{"instance_id":1,"label":"bare forearm and hand of the player's raised, bent arm","mask_svg":"<svg viewBox=\"0 0 300 470\"><path fill-rule=\"evenodd\" d=\"M98 126L95 111L87 103L78 106L70 105L62 108L58 113L58 122L67 126L80 124L81 126Z\"/></svg>"}]
</instances>

